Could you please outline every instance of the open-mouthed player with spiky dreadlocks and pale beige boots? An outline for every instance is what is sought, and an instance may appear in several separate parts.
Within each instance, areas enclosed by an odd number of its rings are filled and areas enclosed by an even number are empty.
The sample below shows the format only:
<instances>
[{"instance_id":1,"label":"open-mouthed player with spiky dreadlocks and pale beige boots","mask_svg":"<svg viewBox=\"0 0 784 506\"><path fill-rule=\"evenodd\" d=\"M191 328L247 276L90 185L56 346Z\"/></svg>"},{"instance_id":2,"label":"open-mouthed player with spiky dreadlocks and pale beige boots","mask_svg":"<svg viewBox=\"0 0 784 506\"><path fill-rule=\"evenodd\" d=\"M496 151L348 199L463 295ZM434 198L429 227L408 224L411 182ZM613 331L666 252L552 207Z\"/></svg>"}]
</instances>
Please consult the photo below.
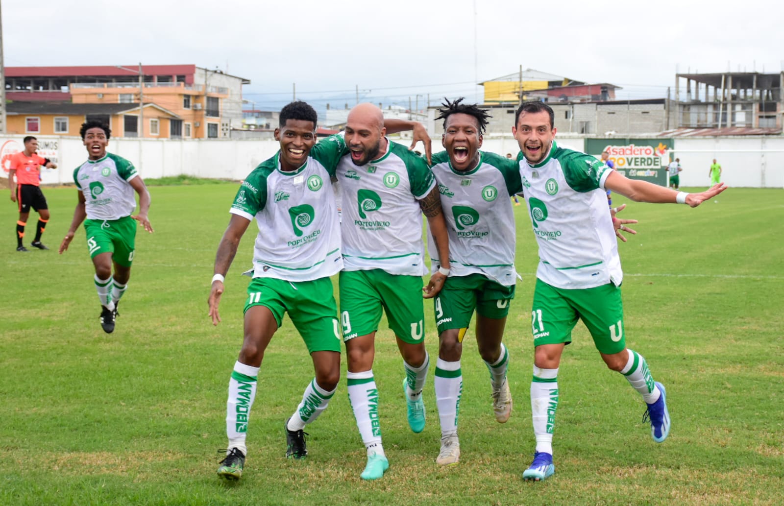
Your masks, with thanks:
<instances>
[{"instance_id":1,"label":"open-mouthed player with spiky dreadlocks and pale beige boots","mask_svg":"<svg viewBox=\"0 0 784 506\"><path fill-rule=\"evenodd\" d=\"M487 110L446 101L441 115L445 151L433 157L432 170L441 193L449 237L449 276L434 298L438 328L435 392L441 421L441 452L436 462L457 464L457 422L463 391L460 356L463 337L477 312L479 354L490 372L496 421L509 420L512 396L506 381L509 352L501 342L514 298L515 226L510 196L522 190L517 161L480 151ZM432 246L431 266L441 260ZM435 269L435 267L432 267Z\"/></svg>"}]
</instances>

